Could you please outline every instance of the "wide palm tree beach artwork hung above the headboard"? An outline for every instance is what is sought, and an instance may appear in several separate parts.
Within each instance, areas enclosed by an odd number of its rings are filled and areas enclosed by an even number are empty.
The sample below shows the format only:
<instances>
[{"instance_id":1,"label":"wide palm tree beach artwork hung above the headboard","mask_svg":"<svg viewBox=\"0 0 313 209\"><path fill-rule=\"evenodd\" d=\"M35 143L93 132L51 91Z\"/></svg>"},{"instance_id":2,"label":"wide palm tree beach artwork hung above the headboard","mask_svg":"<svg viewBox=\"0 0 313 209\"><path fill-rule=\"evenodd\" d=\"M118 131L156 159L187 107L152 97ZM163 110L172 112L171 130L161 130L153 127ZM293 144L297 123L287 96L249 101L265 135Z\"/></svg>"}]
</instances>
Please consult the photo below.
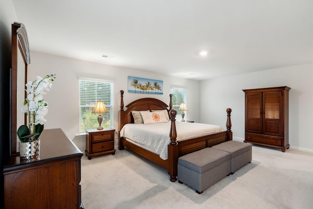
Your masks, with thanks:
<instances>
[{"instance_id":1,"label":"wide palm tree beach artwork hung above the headboard","mask_svg":"<svg viewBox=\"0 0 313 209\"><path fill-rule=\"evenodd\" d=\"M163 81L128 76L128 92L163 94Z\"/></svg>"}]
</instances>

